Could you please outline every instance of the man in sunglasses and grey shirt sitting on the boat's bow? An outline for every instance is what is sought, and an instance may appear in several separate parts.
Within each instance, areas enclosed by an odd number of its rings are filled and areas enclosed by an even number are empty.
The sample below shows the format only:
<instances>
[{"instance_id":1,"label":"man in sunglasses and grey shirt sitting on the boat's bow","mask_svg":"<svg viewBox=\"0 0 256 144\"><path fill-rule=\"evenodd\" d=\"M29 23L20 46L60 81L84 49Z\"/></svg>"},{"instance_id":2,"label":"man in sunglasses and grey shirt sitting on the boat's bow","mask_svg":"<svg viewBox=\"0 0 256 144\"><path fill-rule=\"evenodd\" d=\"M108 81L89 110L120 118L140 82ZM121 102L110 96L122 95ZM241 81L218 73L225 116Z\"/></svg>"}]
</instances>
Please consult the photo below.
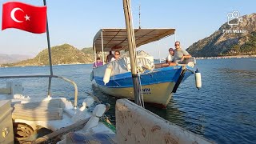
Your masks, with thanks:
<instances>
[{"instance_id":1,"label":"man in sunglasses and grey shirt sitting on the boat's bow","mask_svg":"<svg viewBox=\"0 0 256 144\"><path fill-rule=\"evenodd\" d=\"M180 44L181 42L175 42L174 62L186 64L186 59L191 58L191 55L186 50L182 50Z\"/></svg>"}]
</instances>

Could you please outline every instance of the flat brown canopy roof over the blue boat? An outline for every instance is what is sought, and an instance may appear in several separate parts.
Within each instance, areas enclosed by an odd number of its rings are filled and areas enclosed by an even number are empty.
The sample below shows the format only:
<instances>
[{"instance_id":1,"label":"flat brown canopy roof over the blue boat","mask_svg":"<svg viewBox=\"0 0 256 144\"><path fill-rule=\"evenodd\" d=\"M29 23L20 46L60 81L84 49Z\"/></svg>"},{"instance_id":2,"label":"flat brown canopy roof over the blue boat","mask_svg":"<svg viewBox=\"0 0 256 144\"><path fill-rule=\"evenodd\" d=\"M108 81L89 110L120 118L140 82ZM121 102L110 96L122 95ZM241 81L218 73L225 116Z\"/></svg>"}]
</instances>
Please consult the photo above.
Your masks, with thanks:
<instances>
[{"instance_id":1,"label":"flat brown canopy roof over the blue boat","mask_svg":"<svg viewBox=\"0 0 256 144\"><path fill-rule=\"evenodd\" d=\"M175 29L170 28L148 28L148 29L134 29L136 47L145 45L150 42L158 41L174 34ZM94 36L94 47L96 51L114 51L128 49L128 41L126 29L101 29Z\"/></svg>"}]
</instances>

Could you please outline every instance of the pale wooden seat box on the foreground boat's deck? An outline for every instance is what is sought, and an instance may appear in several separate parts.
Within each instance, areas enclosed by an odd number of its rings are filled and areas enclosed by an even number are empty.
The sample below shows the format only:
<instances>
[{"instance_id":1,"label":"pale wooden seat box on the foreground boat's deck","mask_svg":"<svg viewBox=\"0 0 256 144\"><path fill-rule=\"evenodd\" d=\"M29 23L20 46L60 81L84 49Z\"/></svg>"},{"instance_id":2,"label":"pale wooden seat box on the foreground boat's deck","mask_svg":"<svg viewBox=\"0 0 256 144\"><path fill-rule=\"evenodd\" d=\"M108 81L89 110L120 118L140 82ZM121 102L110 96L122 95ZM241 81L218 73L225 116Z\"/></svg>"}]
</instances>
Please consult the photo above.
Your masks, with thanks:
<instances>
[{"instance_id":1,"label":"pale wooden seat box on the foreground boat's deck","mask_svg":"<svg viewBox=\"0 0 256 144\"><path fill-rule=\"evenodd\" d=\"M28 102L15 104L12 112L13 119L29 121L51 121L62 119L63 109L61 105L50 102Z\"/></svg>"}]
</instances>

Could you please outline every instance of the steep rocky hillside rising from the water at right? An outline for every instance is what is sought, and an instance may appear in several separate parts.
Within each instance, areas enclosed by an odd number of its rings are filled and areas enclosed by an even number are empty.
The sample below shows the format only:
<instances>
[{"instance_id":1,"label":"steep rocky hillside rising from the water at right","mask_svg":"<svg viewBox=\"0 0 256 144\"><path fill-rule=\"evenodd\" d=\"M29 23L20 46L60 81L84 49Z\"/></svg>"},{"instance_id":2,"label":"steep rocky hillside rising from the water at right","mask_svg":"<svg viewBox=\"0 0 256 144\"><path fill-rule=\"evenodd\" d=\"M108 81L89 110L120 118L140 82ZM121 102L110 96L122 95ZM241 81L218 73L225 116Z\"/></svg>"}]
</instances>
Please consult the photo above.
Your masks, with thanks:
<instances>
[{"instance_id":1,"label":"steep rocky hillside rising from the water at right","mask_svg":"<svg viewBox=\"0 0 256 144\"><path fill-rule=\"evenodd\" d=\"M256 14L242 16L237 26L231 27L226 22L214 34L186 50L196 57L256 54Z\"/></svg>"}]
</instances>

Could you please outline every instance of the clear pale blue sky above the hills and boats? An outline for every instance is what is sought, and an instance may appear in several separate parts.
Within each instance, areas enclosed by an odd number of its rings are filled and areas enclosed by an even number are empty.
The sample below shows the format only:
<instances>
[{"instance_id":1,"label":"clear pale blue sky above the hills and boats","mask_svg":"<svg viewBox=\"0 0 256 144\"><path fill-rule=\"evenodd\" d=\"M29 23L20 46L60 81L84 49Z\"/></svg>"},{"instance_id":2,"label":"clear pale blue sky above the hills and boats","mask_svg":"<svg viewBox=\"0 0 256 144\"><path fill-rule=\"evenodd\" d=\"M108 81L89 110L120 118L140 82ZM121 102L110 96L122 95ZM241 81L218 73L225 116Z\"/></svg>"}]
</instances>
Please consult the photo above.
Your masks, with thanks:
<instances>
[{"instance_id":1,"label":"clear pale blue sky above the hills and boats","mask_svg":"<svg viewBox=\"0 0 256 144\"><path fill-rule=\"evenodd\" d=\"M0 23L2 3L0 0ZM20 0L42 6L43 0ZM122 0L46 0L50 29L50 46L68 43L79 50L91 47L94 35L101 28L125 28ZM176 40L183 49L206 38L227 22L227 14L238 10L240 15L256 12L255 0L131 0L134 28L138 28L138 7L141 5L142 28L175 28ZM154 58L166 57L174 47L174 36L141 46ZM35 56L47 48L46 34L32 34L17 29L0 31L0 54Z\"/></svg>"}]
</instances>

